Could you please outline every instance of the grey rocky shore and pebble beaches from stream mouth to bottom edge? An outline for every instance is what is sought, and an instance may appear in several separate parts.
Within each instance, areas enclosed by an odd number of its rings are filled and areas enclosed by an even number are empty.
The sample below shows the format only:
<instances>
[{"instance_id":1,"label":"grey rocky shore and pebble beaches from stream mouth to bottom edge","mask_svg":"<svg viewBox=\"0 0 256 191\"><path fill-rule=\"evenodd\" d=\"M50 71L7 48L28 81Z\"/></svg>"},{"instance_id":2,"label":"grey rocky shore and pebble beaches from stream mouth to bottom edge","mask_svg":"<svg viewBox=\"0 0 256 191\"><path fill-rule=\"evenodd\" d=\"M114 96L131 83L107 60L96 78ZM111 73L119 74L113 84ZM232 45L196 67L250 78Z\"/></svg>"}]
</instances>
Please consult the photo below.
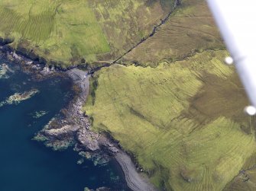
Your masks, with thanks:
<instances>
[{"instance_id":1,"label":"grey rocky shore and pebble beaches from stream mouth to bottom edge","mask_svg":"<svg viewBox=\"0 0 256 191\"><path fill-rule=\"evenodd\" d=\"M132 190L156 190L151 183L138 173L131 158L108 135L90 129L88 118L82 111L83 103L89 94L89 75L77 68L66 72L79 88L79 94L63 111L63 119L54 119L37 137L45 140L54 149L75 145L75 150L84 158L91 158L96 164L104 164L115 158L125 173L125 180ZM56 126L56 124L58 124Z\"/></svg>"}]
</instances>

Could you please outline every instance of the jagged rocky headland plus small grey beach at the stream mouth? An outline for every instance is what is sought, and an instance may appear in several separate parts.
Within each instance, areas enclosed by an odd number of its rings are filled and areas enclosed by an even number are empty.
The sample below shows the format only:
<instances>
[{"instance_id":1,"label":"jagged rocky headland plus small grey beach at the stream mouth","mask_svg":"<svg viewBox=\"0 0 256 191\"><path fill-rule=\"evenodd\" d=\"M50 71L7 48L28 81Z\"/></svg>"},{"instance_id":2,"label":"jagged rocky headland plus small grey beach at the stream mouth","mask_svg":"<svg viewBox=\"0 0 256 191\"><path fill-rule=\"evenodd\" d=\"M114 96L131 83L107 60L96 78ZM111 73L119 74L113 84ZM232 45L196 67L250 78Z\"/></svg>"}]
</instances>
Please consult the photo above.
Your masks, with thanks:
<instances>
[{"instance_id":1,"label":"jagged rocky headland plus small grey beach at the stream mouth","mask_svg":"<svg viewBox=\"0 0 256 191\"><path fill-rule=\"evenodd\" d=\"M69 70L67 74L79 88L76 97L65 109L65 119L52 119L35 139L45 142L54 150L76 144L77 151L89 151L96 161L101 153L104 155L103 161L106 161L106 158L118 152L118 148L105 135L93 132L89 119L84 116L83 103L89 94L89 75L77 68Z\"/></svg>"}]
</instances>

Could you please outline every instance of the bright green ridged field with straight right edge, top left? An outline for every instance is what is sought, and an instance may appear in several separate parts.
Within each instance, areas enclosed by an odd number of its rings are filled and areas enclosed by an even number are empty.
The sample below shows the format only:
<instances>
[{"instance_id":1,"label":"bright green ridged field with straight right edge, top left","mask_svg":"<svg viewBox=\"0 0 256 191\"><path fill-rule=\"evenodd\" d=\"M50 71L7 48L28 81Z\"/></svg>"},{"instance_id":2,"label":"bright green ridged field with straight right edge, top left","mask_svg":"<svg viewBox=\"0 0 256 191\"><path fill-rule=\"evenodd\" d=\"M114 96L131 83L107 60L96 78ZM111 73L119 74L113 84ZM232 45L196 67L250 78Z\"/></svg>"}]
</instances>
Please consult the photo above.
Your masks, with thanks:
<instances>
[{"instance_id":1,"label":"bright green ridged field with straight right edge, top left","mask_svg":"<svg viewBox=\"0 0 256 191\"><path fill-rule=\"evenodd\" d=\"M22 6L21 6L22 5ZM109 44L86 1L0 2L0 30L28 40L34 53L67 65L80 56L108 52Z\"/></svg>"}]
</instances>

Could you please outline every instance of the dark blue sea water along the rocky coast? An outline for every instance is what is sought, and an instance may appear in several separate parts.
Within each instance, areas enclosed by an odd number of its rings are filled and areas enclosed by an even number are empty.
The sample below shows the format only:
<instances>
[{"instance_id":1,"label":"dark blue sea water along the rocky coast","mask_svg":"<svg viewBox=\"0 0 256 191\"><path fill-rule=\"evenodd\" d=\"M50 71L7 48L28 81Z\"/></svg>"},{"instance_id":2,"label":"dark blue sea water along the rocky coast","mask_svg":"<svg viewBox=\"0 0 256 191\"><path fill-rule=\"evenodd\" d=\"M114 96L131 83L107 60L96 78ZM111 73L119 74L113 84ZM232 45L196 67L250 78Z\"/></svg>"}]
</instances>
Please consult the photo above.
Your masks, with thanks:
<instances>
[{"instance_id":1,"label":"dark blue sea water along the rocky coast","mask_svg":"<svg viewBox=\"0 0 256 191\"><path fill-rule=\"evenodd\" d=\"M52 151L31 140L70 100L70 81L63 78L33 81L15 63L0 57L2 63L8 63L14 72L0 78L0 102L31 88L37 88L40 93L17 105L0 107L0 190L83 191L86 186L128 190L115 161L104 167L95 167L92 161L79 165L76 164L79 155L71 148ZM34 118L37 111L47 114Z\"/></svg>"}]
</instances>

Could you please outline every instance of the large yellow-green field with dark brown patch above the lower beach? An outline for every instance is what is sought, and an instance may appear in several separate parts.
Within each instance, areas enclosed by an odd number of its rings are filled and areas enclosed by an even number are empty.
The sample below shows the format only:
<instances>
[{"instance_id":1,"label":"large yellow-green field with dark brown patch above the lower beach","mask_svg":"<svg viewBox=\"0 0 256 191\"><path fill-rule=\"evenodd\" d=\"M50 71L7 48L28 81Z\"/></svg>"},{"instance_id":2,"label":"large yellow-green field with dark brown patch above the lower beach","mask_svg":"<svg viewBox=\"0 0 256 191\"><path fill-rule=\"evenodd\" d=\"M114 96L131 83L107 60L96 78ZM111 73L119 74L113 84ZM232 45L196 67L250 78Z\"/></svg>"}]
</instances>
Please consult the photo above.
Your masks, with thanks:
<instances>
[{"instance_id":1,"label":"large yellow-green field with dark brown patch above the lower beach","mask_svg":"<svg viewBox=\"0 0 256 191\"><path fill-rule=\"evenodd\" d=\"M225 56L102 68L85 106L93 128L110 132L161 188L223 189L256 151L244 90Z\"/></svg>"}]
</instances>

